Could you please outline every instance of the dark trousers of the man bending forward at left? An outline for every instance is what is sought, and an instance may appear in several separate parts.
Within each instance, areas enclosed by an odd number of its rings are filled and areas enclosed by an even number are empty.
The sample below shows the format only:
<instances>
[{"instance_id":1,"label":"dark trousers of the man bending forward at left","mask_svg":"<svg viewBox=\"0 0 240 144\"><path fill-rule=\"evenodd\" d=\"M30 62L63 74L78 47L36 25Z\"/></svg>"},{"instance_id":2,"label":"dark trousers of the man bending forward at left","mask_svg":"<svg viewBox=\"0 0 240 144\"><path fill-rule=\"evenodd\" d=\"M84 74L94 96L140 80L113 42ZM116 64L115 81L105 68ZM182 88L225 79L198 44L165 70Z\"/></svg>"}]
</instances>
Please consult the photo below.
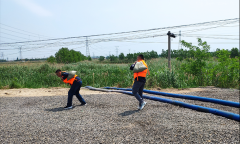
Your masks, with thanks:
<instances>
[{"instance_id":1,"label":"dark trousers of the man bending forward at left","mask_svg":"<svg viewBox=\"0 0 240 144\"><path fill-rule=\"evenodd\" d=\"M81 104L85 104L85 100L82 98L82 96L79 94L79 90L82 86L82 81L74 81L73 85L71 86L70 90L68 91L68 103L67 106L72 106L72 99L73 95L76 95L78 100L81 102Z\"/></svg>"}]
</instances>

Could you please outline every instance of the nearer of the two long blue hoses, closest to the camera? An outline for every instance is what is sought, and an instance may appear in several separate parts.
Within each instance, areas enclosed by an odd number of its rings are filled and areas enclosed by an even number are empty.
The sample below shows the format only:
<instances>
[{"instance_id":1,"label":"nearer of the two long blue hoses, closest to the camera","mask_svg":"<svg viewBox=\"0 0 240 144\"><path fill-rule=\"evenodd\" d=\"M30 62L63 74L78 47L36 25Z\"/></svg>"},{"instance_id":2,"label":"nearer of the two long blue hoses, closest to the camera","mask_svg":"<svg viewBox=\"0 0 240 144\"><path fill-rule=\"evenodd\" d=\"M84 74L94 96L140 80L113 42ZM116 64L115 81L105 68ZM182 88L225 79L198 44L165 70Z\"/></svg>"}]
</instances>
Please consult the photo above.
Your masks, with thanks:
<instances>
[{"instance_id":1,"label":"nearer of the two long blue hoses, closest to the camera","mask_svg":"<svg viewBox=\"0 0 240 144\"><path fill-rule=\"evenodd\" d=\"M90 90L98 90L98 91L105 91L105 92L119 92L119 93L124 93L124 94L128 94L128 95L133 95L131 92L127 92L127 91L123 91L123 90L120 90L120 91L106 90L106 89L94 88L91 86L86 86L85 88L88 88ZM226 118L229 118L232 120L240 121L239 114L235 114L235 113L231 113L231 112L226 112L226 111L222 111L222 110L218 110L218 109L203 107L203 106L199 106L199 105L193 105L193 104L189 104L189 103L185 103L185 102L181 102L181 101L175 101L175 100L171 100L171 99L165 99L165 98L154 97L154 96L143 95L143 98L149 99L149 100L154 100L154 101L160 101L160 102L164 102L164 103L170 103L173 105L178 105L178 106L193 109L196 111L212 113L212 114L223 116L223 117L226 117Z\"/></svg>"}]
</instances>

